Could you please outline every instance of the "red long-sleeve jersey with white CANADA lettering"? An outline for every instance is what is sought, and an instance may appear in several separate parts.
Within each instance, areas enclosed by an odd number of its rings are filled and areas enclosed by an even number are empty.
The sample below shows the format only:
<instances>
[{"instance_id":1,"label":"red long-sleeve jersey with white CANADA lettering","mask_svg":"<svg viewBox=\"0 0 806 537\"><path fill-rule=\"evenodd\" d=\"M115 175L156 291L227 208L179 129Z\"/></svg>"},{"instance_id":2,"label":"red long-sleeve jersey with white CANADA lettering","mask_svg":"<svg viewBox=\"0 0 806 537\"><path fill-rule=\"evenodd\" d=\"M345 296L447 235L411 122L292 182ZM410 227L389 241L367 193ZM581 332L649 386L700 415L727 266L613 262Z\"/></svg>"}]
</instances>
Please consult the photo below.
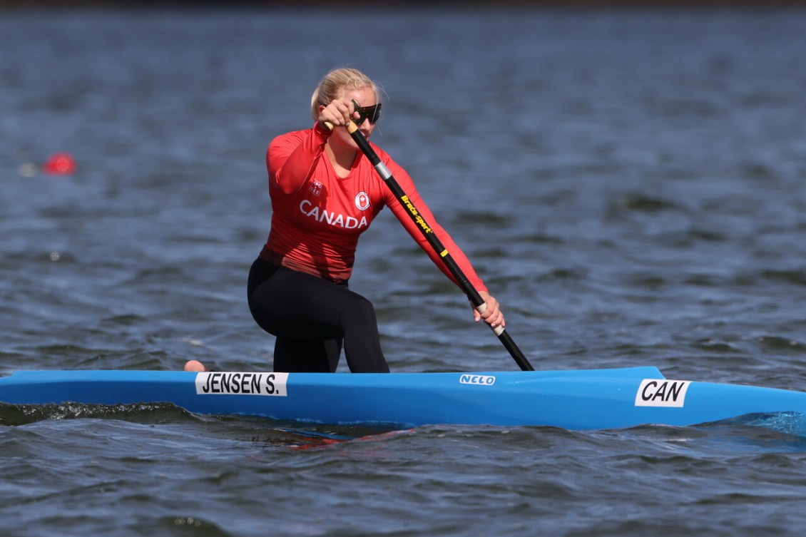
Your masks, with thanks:
<instances>
[{"instance_id":1,"label":"red long-sleeve jersey with white CANADA lettering","mask_svg":"<svg viewBox=\"0 0 806 537\"><path fill-rule=\"evenodd\" d=\"M330 281L347 281L355 261L359 236L367 231L384 206L389 206L409 235L434 264L455 283L408 210L378 176L372 163L358 153L350 175L339 177L324 154L330 132L321 127L289 132L272 140L266 152L268 189L272 198L272 227L260 256L303 273ZM436 223L420 199L413 181L388 154L372 147L393 174L423 219L451 252L468 281L487 291L467 256Z\"/></svg>"}]
</instances>

